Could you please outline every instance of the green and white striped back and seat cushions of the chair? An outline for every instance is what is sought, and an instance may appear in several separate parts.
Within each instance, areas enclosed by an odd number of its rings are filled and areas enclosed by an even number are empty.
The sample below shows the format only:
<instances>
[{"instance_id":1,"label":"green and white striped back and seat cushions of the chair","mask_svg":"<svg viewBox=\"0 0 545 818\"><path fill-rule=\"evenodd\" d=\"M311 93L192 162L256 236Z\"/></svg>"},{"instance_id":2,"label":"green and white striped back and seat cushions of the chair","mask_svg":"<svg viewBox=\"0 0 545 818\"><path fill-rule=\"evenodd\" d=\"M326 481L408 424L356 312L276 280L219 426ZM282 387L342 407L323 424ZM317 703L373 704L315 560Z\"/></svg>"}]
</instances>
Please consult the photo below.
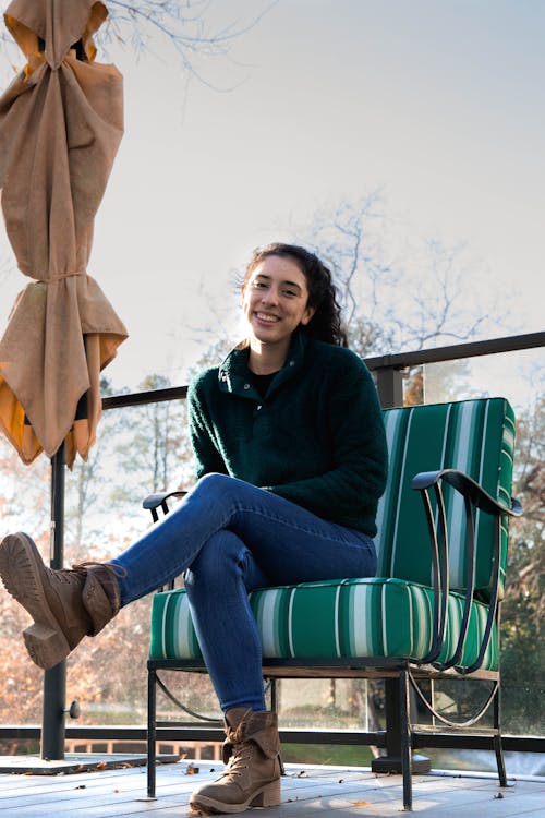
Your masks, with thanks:
<instances>
[{"instance_id":1,"label":"green and white striped back and seat cushions of the chair","mask_svg":"<svg viewBox=\"0 0 545 818\"><path fill-rule=\"evenodd\" d=\"M422 500L410 488L420 471L456 468L494 497L510 498L514 417L502 398L385 410L390 478L378 513L379 577L305 582L250 594L264 659L403 657L422 659L433 634L433 590ZM463 611L464 513L445 490L450 543L447 633L440 661L456 649ZM461 664L475 659L487 616L493 520L476 515L480 600L471 611ZM501 576L507 558L502 529ZM497 667L493 631L483 667ZM157 593L152 611L152 659L201 657L183 589Z\"/></svg>"}]
</instances>

